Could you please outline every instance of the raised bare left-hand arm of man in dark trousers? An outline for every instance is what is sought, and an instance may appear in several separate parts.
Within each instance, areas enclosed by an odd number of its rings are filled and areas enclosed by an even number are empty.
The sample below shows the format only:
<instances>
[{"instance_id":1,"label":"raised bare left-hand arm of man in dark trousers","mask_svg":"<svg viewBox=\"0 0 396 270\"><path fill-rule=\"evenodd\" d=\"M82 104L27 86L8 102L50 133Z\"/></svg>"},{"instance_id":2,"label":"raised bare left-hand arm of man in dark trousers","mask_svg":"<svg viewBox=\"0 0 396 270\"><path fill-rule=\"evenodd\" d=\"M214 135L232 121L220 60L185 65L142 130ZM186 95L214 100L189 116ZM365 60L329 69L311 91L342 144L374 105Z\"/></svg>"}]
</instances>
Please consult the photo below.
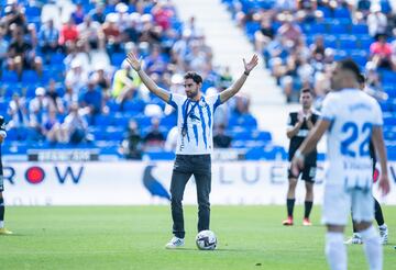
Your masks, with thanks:
<instances>
[{"instance_id":1,"label":"raised bare left-hand arm of man in dark trousers","mask_svg":"<svg viewBox=\"0 0 396 270\"><path fill-rule=\"evenodd\" d=\"M160 99L165 101L166 103L169 102L170 93L166 91L165 89L160 88L144 70L142 69L142 59L138 59L136 56L133 53L129 53L127 56L128 63L131 65L131 67L138 72L139 77L142 79L142 82L146 88L157 95Z\"/></svg>"}]
</instances>

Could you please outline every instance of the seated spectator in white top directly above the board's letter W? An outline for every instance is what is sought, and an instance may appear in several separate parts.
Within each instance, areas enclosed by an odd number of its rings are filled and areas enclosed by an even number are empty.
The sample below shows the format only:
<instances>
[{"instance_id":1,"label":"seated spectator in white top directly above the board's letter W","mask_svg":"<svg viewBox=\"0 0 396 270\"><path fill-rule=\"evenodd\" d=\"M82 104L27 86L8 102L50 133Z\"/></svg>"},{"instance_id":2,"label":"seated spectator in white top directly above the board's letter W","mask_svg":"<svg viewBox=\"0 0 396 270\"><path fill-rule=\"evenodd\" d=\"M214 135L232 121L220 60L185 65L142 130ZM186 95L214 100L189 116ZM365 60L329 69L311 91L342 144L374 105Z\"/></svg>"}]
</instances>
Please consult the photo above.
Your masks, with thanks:
<instances>
[{"instance_id":1,"label":"seated spectator in white top directly above the board's letter W","mask_svg":"<svg viewBox=\"0 0 396 270\"><path fill-rule=\"evenodd\" d=\"M86 140L88 134L88 123L78 112L78 104L70 105L70 112L65 117L62 128L65 130L70 144L80 144Z\"/></svg>"}]
</instances>

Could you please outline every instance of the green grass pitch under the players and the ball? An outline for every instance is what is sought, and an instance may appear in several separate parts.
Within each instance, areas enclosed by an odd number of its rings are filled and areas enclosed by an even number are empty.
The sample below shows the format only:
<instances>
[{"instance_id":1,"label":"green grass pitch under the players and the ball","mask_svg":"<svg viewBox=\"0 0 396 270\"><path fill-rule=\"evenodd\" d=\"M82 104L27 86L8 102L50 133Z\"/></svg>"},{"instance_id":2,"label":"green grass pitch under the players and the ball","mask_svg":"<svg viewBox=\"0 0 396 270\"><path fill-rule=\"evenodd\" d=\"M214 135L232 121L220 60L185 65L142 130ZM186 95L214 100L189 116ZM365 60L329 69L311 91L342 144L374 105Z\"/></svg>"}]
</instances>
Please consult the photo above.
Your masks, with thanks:
<instances>
[{"instance_id":1,"label":"green grass pitch under the players and the ball","mask_svg":"<svg viewBox=\"0 0 396 270\"><path fill-rule=\"evenodd\" d=\"M197 207L185 207L186 246L166 250L167 206L8 207L0 236L0 269L328 269L320 209L312 227L283 227L284 206L212 206L215 251L195 246ZM389 245L384 269L396 265L396 207L384 207ZM350 235L350 227L348 229ZM349 269L367 269L362 246L349 246Z\"/></svg>"}]
</instances>

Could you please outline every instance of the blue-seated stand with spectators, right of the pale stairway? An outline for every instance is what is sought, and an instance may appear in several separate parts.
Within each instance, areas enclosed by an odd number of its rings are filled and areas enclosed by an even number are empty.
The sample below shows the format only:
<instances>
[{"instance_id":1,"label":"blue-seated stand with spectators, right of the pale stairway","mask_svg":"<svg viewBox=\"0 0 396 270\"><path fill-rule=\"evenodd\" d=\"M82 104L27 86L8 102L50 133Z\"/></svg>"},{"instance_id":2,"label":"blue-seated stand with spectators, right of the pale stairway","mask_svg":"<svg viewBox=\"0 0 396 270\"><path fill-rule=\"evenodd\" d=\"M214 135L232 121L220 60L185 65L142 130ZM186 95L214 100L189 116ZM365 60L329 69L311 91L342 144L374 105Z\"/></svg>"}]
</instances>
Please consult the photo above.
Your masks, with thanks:
<instances>
[{"instance_id":1,"label":"blue-seated stand with spectators, right of the pale stairway","mask_svg":"<svg viewBox=\"0 0 396 270\"><path fill-rule=\"evenodd\" d=\"M396 138L396 15L381 1L222 0L244 29L288 102L301 87L311 87L316 106L329 91L330 67L351 57L364 71L366 91L384 111L384 136L389 159ZM264 153L254 149L248 157Z\"/></svg>"}]
</instances>

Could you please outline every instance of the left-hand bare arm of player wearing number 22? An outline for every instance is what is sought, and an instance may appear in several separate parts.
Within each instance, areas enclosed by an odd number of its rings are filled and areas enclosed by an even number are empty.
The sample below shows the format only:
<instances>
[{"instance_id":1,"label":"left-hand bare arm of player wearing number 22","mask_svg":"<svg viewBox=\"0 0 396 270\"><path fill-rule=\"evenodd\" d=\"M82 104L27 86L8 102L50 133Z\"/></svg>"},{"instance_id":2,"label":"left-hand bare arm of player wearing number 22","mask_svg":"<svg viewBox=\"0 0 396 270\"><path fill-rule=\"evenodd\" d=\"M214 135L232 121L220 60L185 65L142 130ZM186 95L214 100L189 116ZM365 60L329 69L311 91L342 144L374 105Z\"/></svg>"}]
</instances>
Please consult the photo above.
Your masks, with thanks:
<instances>
[{"instance_id":1,"label":"left-hand bare arm of player wearing number 22","mask_svg":"<svg viewBox=\"0 0 396 270\"><path fill-rule=\"evenodd\" d=\"M319 139L323 136L326 131L329 130L330 125L331 122L329 120L322 119L314 126L314 130L294 155L292 160L292 170L294 175L298 175L298 170L304 167L305 156L315 149Z\"/></svg>"}]
</instances>

